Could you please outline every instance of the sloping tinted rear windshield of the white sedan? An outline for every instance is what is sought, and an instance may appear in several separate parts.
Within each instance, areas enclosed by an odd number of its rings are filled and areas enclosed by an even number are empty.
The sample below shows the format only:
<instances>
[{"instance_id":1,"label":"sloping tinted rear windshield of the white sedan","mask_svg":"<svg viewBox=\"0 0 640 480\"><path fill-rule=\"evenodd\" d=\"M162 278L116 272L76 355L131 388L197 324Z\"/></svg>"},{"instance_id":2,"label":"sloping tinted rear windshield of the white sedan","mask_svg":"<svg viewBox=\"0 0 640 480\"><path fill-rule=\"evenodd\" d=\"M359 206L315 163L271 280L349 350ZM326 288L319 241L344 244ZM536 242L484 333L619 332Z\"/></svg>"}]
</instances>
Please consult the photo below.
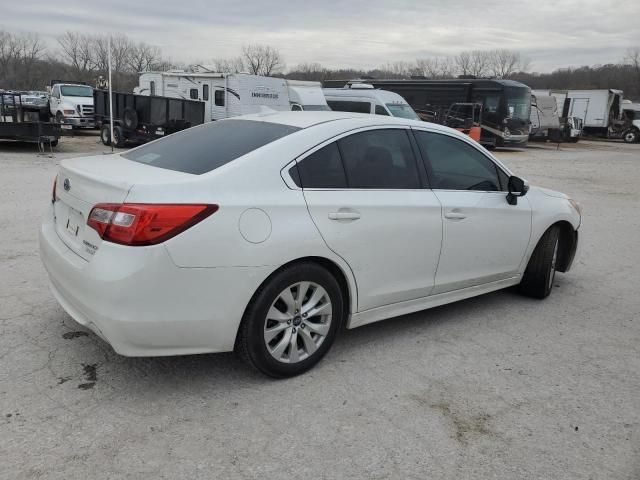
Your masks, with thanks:
<instances>
[{"instance_id":1,"label":"sloping tinted rear windshield of the white sedan","mask_svg":"<svg viewBox=\"0 0 640 480\"><path fill-rule=\"evenodd\" d=\"M298 130L279 123L223 120L189 128L122 156L154 167L201 175Z\"/></svg>"}]
</instances>

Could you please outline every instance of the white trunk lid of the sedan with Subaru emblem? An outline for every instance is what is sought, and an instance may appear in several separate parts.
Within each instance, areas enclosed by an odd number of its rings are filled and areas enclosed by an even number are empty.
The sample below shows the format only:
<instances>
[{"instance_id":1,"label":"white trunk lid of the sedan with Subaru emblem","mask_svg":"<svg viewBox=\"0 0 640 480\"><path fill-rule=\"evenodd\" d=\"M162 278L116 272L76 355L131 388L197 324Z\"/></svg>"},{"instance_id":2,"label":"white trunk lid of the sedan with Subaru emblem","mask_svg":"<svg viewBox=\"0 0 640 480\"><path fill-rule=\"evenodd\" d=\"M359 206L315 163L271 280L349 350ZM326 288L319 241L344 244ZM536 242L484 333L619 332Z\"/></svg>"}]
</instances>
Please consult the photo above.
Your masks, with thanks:
<instances>
[{"instance_id":1,"label":"white trunk lid of the sedan with Subaru emblem","mask_svg":"<svg viewBox=\"0 0 640 480\"><path fill-rule=\"evenodd\" d=\"M187 175L132 162L120 155L63 160L53 208L56 232L73 252L91 261L102 244L98 233L87 225L96 204L123 203L135 184L162 184L181 176Z\"/></svg>"}]
</instances>

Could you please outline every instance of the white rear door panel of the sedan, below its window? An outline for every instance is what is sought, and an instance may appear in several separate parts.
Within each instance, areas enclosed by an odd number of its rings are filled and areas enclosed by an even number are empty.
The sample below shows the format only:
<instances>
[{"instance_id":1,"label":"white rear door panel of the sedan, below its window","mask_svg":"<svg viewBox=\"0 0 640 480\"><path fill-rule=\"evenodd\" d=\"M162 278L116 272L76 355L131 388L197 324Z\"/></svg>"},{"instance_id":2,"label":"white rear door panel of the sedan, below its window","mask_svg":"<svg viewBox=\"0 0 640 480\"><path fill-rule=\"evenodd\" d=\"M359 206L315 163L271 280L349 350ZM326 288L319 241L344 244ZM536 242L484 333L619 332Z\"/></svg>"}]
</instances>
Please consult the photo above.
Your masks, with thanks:
<instances>
[{"instance_id":1,"label":"white rear door panel of the sedan, below its window","mask_svg":"<svg viewBox=\"0 0 640 480\"><path fill-rule=\"evenodd\" d=\"M431 293L442 238L440 202L432 191L305 190L304 195L327 245L355 275L358 311Z\"/></svg>"}]
</instances>

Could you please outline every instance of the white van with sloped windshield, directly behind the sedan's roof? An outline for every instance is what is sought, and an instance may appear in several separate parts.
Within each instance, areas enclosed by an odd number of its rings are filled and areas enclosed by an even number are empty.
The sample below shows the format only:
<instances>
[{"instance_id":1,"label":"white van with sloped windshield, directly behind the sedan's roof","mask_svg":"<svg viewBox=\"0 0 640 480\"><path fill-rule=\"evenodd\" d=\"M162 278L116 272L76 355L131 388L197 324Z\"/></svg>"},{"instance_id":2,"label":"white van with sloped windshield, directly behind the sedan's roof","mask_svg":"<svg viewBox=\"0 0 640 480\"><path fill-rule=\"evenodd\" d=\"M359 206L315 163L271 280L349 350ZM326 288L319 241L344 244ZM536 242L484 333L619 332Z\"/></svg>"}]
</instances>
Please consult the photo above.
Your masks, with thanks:
<instances>
[{"instance_id":1,"label":"white van with sloped windshield, directly behind the sedan's roof","mask_svg":"<svg viewBox=\"0 0 640 480\"><path fill-rule=\"evenodd\" d=\"M354 83L345 88L323 88L322 93L331 110L338 112L372 113L420 120L400 95L375 89L366 83Z\"/></svg>"}]
</instances>

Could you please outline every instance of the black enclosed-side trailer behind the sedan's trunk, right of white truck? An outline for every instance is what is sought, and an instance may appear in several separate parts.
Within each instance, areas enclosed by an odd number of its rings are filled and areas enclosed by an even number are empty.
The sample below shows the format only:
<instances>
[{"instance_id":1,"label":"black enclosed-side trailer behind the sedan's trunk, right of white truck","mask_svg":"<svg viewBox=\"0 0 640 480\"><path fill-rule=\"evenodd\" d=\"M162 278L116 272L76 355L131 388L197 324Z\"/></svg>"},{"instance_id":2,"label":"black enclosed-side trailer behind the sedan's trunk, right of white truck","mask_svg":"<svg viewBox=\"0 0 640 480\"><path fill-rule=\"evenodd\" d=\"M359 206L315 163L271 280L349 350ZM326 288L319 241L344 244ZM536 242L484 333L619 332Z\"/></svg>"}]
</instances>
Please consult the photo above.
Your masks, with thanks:
<instances>
[{"instance_id":1,"label":"black enclosed-side trailer behind the sedan's trunk, right of white truck","mask_svg":"<svg viewBox=\"0 0 640 480\"><path fill-rule=\"evenodd\" d=\"M113 92L113 145L144 143L204 123L204 102ZM100 139L111 144L109 92L94 90Z\"/></svg>"}]
</instances>

